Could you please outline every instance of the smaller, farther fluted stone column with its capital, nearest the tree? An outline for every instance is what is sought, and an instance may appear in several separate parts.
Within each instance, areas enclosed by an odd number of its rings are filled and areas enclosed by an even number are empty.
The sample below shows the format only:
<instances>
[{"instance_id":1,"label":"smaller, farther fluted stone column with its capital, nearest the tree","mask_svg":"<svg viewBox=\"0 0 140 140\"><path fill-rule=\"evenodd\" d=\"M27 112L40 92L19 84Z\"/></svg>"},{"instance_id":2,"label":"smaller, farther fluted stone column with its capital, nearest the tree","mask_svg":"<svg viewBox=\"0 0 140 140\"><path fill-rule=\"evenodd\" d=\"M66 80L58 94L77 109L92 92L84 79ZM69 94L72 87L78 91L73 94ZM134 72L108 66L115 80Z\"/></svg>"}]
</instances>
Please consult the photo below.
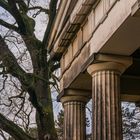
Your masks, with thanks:
<instances>
[{"instance_id":1,"label":"smaller, farther fluted stone column with its capital, nearest the tree","mask_svg":"<svg viewBox=\"0 0 140 140\"><path fill-rule=\"evenodd\" d=\"M78 94L61 98L64 107L64 140L86 139L85 105L88 100L86 96Z\"/></svg>"}]
</instances>

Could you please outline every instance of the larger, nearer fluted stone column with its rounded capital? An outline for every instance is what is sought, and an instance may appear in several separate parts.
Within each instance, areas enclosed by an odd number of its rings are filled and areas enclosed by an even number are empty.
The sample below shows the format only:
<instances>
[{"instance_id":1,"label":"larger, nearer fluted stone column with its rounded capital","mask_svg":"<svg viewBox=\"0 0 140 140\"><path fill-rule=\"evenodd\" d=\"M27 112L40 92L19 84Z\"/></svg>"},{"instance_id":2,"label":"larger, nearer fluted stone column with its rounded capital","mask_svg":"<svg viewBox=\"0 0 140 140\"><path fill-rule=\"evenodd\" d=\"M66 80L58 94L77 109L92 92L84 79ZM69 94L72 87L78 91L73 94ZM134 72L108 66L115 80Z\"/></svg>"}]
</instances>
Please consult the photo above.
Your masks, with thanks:
<instances>
[{"instance_id":1,"label":"larger, nearer fluted stone column with its rounded capital","mask_svg":"<svg viewBox=\"0 0 140 140\"><path fill-rule=\"evenodd\" d=\"M87 71L92 76L93 140L122 140L120 75L125 65L95 63Z\"/></svg>"}]
</instances>

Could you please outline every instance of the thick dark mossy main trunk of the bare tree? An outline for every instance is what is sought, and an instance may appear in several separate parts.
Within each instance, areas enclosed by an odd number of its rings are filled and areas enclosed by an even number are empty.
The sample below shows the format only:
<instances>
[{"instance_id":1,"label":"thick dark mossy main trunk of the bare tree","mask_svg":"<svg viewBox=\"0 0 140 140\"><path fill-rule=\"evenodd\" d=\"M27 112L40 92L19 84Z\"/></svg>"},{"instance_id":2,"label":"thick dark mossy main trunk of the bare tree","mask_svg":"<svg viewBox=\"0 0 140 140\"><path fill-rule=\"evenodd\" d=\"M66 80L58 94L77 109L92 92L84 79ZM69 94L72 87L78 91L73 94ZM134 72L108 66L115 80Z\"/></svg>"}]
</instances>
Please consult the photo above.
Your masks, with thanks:
<instances>
[{"instance_id":1,"label":"thick dark mossy main trunk of the bare tree","mask_svg":"<svg viewBox=\"0 0 140 140\"><path fill-rule=\"evenodd\" d=\"M28 44L29 43L29 44ZM34 90L37 103L41 110L36 108L36 123L39 140L57 140L57 133L54 123L53 105L50 91L49 64L47 62L47 50L38 40L26 42L32 48L40 48L32 51L32 63L34 74L38 77L34 79Z\"/></svg>"}]
</instances>

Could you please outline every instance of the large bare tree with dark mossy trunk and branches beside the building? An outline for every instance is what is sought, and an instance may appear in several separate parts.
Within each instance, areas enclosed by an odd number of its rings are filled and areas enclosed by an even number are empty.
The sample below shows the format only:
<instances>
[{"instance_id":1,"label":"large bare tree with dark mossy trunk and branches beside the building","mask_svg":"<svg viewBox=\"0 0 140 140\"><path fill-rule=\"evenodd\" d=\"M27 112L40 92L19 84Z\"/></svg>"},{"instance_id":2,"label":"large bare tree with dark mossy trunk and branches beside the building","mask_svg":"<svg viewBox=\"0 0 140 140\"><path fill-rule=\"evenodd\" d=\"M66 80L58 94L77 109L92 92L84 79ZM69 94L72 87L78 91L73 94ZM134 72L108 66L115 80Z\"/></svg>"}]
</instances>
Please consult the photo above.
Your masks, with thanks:
<instances>
[{"instance_id":1,"label":"large bare tree with dark mossy trunk and branches beside the building","mask_svg":"<svg viewBox=\"0 0 140 140\"><path fill-rule=\"evenodd\" d=\"M57 2L58 0L50 0L48 5L41 6L37 5L37 0L0 0L0 75L4 79L0 92L6 88L6 81L10 76L16 78L20 83L18 85L13 82L17 89L20 86L19 94L8 96L8 104L3 102L3 105L7 107L17 105L17 103L14 104L16 99L19 101L15 111L16 117L20 118L21 112L24 114L23 116L27 117L30 113L26 114L23 106L26 93L28 93L29 101L36 110L39 140L57 139L50 86L55 86L58 80L53 72L59 68L59 62L49 59L47 49ZM35 18L42 12L46 14L48 21L43 39L40 40L35 35L35 25L37 24ZM29 59L28 64L25 63L25 56ZM26 127L28 123L25 125ZM0 114L0 129L16 140L34 139L24 128L2 113Z\"/></svg>"}]
</instances>

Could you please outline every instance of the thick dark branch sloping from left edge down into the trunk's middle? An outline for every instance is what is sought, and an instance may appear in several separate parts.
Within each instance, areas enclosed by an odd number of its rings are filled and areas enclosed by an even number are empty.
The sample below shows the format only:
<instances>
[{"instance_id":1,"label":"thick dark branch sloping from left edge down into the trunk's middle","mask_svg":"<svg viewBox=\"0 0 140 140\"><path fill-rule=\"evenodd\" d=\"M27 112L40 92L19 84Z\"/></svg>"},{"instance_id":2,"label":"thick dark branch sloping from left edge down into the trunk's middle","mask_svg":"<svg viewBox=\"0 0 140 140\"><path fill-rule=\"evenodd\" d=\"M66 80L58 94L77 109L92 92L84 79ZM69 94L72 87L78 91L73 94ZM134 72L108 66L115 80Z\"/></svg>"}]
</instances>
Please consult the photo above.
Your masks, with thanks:
<instances>
[{"instance_id":1,"label":"thick dark branch sloping from left edge down into the trunk's middle","mask_svg":"<svg viewBox=\"0 0 140 140\"><path fill-rule=\"evenodd\" d=\"M26 73L17 63L15 56L8 49L8 46L4 42L3 38L0 36L0 61L6 67L6 73L11 74L16 77L22 84L23 89L27 91L30 95L29 100L32 102L33 106L36 108L40 114L43 114L42 106L38 103L36 93L34 90L34 76L32 74Z\"/></svg>"}]
</instances>

